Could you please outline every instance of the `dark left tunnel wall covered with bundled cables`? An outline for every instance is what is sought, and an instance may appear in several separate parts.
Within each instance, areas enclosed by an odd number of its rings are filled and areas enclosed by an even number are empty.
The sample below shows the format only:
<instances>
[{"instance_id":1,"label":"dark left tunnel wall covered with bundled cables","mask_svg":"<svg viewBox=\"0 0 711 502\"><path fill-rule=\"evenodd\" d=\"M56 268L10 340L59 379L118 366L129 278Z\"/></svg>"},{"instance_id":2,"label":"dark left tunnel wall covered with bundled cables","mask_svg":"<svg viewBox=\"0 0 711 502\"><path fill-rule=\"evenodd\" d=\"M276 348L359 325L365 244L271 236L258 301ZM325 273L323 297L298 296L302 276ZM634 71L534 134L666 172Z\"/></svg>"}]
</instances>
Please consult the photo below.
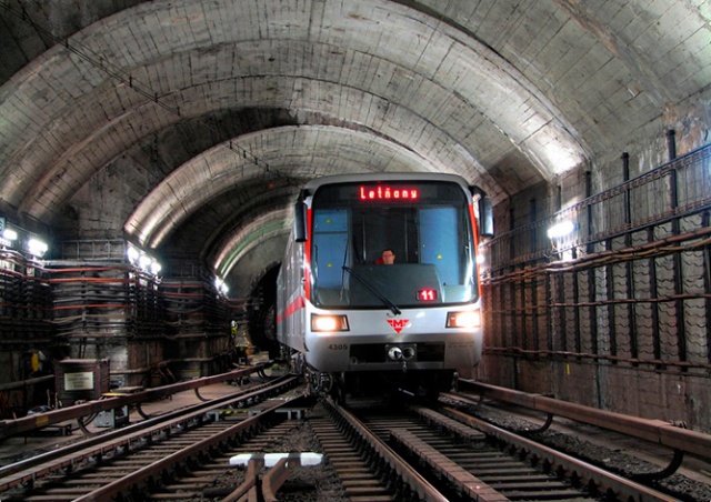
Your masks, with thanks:
<instances>
[{"instance_id":1,"label":"dark left tunnel wall covered with bundled cables","mask_svg":"<svg viewBox=\"0 0 711 502\"><path fill-rule=\"evenodd\" d=\"M66 359L108 360L111 386L231 369L230 305L209 277L194 267L178 278L147 273L127 262L124 241L67 241L63 252L50 261L0 254L0 383L52 374ZM4 395L13 408L28 401L14 394Z\"/></svg>"}]
</instances>

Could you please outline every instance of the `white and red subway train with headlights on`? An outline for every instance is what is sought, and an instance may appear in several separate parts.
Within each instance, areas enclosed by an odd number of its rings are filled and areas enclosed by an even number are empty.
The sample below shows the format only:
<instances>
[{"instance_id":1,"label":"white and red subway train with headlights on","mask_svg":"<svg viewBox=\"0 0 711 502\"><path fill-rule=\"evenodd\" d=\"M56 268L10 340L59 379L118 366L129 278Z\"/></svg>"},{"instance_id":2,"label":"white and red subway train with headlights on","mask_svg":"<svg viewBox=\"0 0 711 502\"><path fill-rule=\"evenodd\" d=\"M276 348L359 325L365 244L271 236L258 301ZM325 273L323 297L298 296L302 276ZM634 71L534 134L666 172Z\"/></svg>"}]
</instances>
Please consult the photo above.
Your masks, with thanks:
<instances>
[{"instance_id":1,"label":"white and red subway train with headlights on","mask_svg":"<svg viewBox=\"0 0 711 502\"><path fill-rule=\"evenodd\" d=\"M277 340L314 393L435 396L482 351L478 243L491 203L461 177L318 178L294 205Z\"/></svg>"}]
</instances>

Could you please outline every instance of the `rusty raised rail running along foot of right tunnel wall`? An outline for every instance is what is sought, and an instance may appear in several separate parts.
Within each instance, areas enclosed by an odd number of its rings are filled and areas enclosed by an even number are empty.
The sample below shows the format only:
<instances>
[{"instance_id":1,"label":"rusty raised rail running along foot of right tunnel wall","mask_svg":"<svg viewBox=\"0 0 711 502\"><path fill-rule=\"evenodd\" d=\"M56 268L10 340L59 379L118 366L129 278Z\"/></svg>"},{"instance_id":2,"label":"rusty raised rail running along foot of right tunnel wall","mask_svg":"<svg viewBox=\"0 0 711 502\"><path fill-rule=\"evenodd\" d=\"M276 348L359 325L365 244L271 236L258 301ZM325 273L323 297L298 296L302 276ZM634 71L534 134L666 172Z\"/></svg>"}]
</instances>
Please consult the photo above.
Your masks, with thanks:
<instances>
[{"instance_id":1,"label":"rusty raised rail running along foot of right tunnel wall","mask_svg":"<svg viewBox=\"0 0 711 502\"><path fill-rule=\"evenodd\" d=\"M663 420L630 416L471 380L459 380L460 390L462 383L467 385L468 390L478 392L481 396L485 395L487 398L498 401L504 401L530 410L548 413L549 420L551 415L564 416L577 422L595 425L601 429L608 429L632 438L661 444L674 451L692 453L703 459L711 459L711 434L683 429L682 426Z\"/></svg>"}]
</instances>

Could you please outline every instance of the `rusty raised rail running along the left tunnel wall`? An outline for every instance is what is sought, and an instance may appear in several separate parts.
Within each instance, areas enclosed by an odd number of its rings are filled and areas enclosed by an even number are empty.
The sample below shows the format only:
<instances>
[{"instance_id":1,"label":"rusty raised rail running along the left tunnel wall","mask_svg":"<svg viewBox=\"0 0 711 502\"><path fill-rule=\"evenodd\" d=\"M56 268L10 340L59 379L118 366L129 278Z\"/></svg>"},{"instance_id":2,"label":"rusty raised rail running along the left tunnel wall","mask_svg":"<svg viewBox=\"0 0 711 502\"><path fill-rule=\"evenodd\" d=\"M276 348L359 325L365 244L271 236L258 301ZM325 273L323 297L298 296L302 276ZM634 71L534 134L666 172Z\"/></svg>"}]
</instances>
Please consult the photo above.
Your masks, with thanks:
<instances>
[{"instance_id":1,"label":"rusty raised rail running along the left tunnel wall","mask_svg":"<svg viewBox=\"0 0 711 502\"><path fill-rule=\"evenodd\" d=\"M133 404L140 405L140 403L143 402L156 401L158 399L167 398L178 392L188 390L194 390L198 398L200 398L198 390L202 386L222 383L230 380L238 380L252 373L259 373L264 370L266 365L267 364L260 364L247 369L233 370L212 376L203 376L200 379L188 380L186 382L147 389L144 391L134 392L131 394L119 395L112 393L110 398L101 399L98 401L89 401L83 404L48 411L46 413L28 415L21 419L4 420L0 422L0 440L23 432L42 429L48 425L64 422L67 420L81 420L81 418L90 416L102 411L116 410Z\"/></svg>"}]
</instances>

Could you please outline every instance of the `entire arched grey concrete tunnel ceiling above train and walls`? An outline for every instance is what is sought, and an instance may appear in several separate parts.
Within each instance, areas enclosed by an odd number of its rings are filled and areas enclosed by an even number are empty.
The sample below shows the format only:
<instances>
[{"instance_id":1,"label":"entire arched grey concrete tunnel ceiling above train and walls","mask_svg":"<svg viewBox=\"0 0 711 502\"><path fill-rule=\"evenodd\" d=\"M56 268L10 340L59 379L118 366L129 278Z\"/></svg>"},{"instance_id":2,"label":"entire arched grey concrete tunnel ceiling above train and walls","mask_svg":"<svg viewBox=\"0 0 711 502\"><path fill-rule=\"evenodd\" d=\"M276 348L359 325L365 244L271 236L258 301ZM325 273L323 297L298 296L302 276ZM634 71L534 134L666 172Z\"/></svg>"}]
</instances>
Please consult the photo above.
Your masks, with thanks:
<instances>
[{"instance_id":1,"label":"entire arched grey concrete tunnel ceiling above train and walls","mask_svg":"<svg viewBox=\"0 0 711 502\"><path fill-rule=\"evenodd\" d=\"M0 211L194 255L247 294L309 179L453 172L497 203L619 155L662 110L708 110L710 18L684 0L0 0Z\"/></svg>"}]
</instances>

